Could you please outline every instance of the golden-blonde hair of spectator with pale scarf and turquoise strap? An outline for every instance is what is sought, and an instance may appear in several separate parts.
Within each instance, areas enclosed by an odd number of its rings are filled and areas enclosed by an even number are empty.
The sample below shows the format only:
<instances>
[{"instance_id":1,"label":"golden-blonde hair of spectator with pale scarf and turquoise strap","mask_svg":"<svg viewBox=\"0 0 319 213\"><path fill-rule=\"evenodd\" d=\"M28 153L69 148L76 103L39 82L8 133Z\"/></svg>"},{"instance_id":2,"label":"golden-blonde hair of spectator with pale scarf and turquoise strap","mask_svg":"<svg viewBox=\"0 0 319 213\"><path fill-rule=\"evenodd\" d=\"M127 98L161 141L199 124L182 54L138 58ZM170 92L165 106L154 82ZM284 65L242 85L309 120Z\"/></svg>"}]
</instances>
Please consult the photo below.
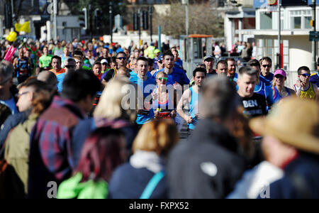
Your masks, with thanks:
<instances>
[{"instance_id":1,"label":"golden-blonde hair of spectator with pale scarf and turquoise strap","mask_svg":"<svg viewBox=\"0 0 319 213\"><path fill-rule=\"evenodd\" d=\"M133 142L133 153L137 150L154 151L157 155L168 155L179 140L176 125L170 120L153 120L142 126Z\"/></svg>"}]
</instances>

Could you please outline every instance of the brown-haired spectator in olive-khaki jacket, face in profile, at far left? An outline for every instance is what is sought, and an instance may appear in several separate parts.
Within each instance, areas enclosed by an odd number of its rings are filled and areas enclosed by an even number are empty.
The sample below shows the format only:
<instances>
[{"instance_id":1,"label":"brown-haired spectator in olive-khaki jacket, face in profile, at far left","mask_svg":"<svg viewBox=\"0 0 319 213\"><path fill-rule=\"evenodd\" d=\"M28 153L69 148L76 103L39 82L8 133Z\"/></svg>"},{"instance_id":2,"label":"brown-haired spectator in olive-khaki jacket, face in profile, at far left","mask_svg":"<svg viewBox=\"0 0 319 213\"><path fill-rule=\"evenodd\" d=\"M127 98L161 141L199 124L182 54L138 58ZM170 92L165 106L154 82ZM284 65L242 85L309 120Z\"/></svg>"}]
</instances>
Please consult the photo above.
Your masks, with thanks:
<instances>
[{"instance_id":1,"label":"brown-haired spectator in olive-khaki jacket, face in profile, at far left","mask_svg":"<svg viewBox=\"0 0 319 213\"><path fill-rule=\"evenodd\" d=\"M26 121L18 124L6 139L4 158L18 175L17 180L11 180L14 185L8 192L18 194L28 192L28 155L30 152L30 132L38 116L50 106L51 88L42 81L28 80L18 93L17 106L21 111L30 110ZM15 181L15 182L13 182ZM22 182L22 185L20 184ZM9 182L7 182L9 185ZM9 194L7 198L11 195ZM16 195L12 195L16 196ZM23 196L24 197L24 196ZM19 197L19 198L23 198ZM16 197L17 198L17 197Z\"/></svg>"}]
</instances>

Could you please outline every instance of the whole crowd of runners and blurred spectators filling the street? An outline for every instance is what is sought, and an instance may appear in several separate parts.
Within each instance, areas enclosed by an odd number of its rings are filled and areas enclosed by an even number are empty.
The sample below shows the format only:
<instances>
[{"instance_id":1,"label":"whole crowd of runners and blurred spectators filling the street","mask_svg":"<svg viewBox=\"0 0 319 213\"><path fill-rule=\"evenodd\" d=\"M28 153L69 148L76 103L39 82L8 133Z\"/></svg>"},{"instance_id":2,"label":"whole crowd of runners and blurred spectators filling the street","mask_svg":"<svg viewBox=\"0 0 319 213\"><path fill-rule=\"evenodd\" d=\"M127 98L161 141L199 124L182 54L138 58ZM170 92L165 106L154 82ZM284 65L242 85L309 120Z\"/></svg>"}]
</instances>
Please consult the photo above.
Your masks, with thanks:
<instances>
[{"instance_id":1,"label":"whole crowd of runners and blurred spectators filling the street","mask_svg":"<svg viewBox=\"0 0 319 213\"><path fill-rule=\"evenodd\" d=\"M1 198L319 198L318 71L289 88L269 57L206 55L189 79L169 43L10 45Z\"/></svg>"}]
</instances>

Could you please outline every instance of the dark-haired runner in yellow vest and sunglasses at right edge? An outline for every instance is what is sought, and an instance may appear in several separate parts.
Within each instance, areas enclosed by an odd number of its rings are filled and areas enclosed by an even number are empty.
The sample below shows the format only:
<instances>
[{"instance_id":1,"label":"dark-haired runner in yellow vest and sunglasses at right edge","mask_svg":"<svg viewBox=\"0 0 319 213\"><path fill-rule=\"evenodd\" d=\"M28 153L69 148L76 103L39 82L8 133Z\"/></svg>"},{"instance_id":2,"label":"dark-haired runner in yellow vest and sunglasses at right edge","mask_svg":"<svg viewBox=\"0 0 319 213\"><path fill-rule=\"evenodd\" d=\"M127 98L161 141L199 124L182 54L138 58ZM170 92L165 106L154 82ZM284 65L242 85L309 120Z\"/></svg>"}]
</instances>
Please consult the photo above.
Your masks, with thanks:
<instances>
[{"instance_id":1,"label":"dark-haired runner in yellow vest and sunglasses at right edge","mask_svg":"<svg viewBox=\"0 0 319 213\"><path fill-rule=\"evenodd\" d=\"M298 69L298 80L295 84L295 91L301 99L315 99L315 92L318 87L316 84L309 82L310 70L308 67L303 66Z\"/></svg>"}]
</instances>

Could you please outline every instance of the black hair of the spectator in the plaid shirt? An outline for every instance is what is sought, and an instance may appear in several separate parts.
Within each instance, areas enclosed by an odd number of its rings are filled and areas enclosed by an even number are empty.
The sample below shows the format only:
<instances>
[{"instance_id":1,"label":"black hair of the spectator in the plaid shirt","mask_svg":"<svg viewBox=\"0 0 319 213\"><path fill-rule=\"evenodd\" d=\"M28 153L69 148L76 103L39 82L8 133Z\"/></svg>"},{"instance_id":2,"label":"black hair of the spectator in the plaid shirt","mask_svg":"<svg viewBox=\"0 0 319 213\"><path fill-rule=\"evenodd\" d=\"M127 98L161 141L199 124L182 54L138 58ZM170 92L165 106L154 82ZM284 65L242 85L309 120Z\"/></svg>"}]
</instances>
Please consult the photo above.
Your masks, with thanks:
<instances>
[{"instance_id":1,"label":"black hair of the spectator in the plaid shirt","mask_svg":"<svg viewBox=\"0 0 319 213\"><path fill-rule=\"evenodd\" d=\"M61 96L72 102L79 102L88 94L93 98L100 89L101 82L93 72L79 69L76 72L67 72Z\"/></svg>"}]
</instances>

